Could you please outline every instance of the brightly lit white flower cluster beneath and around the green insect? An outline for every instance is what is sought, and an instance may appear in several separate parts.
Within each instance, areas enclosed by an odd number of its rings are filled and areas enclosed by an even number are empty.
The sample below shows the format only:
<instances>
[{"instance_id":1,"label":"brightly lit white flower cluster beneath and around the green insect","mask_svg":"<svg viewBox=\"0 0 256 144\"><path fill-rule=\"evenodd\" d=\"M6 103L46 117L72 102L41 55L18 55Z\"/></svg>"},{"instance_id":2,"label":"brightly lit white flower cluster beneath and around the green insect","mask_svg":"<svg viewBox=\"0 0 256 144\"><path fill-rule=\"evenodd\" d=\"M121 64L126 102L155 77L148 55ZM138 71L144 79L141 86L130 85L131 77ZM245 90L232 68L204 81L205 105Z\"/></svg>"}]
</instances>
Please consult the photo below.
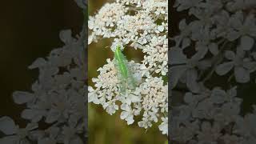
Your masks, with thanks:
<instances>
[{"instance_id":1,"label":"brightly lit white flower cluster beneath and around the green insect","mask_svg":"<svg viewBox=\"0 0 256 144\"><path fill-rule=\"evenodd\" d=\"M122 46L121 50L132 47L144 53L141 63L127 62L137 84L134 90L127 88L126 94L122 94L114 59L107 59L107 64L98 69L98 78L92 79L94 86L89 87L88 101L102 105L109 114L120 107L120 117L128 125L140 114L143 118L138 126L146 129L161 118L162 134L168 134L167 14L167 0L117 0L102 6L88 22L89 44L101 38L113 38L110 46L113 51ZM118 102L122 102L121 106Z\"/></svg>"}]
</instances>

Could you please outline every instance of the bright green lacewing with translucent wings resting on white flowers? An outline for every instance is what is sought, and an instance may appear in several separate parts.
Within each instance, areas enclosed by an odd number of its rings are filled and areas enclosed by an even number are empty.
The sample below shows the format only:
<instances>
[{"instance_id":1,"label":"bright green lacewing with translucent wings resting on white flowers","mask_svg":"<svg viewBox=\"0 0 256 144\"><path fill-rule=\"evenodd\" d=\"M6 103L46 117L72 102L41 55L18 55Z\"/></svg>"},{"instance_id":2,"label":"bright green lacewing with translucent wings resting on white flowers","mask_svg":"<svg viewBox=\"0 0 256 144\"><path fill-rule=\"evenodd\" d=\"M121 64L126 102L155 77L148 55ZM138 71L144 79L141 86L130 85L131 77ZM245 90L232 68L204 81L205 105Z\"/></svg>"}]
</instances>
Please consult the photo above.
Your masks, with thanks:
<instances>
[{"instance_id":1,"label":"bright green lacewing with translucent wings resting on white flowers","mask_svg":"<svg viewBox=\"0 0 256 144\"><path fill-rule=\"evenodd\" d=\"M133 90L135 88L134 78L130 72L129 66L127 65L128 61L126 56L122 54L122 50L120 46L116 47L114 51L114 59L115 59L115 66L118 69L118 76L121 82L121 92L126 92L127 88Z\"/></svg>"}]
</instances>

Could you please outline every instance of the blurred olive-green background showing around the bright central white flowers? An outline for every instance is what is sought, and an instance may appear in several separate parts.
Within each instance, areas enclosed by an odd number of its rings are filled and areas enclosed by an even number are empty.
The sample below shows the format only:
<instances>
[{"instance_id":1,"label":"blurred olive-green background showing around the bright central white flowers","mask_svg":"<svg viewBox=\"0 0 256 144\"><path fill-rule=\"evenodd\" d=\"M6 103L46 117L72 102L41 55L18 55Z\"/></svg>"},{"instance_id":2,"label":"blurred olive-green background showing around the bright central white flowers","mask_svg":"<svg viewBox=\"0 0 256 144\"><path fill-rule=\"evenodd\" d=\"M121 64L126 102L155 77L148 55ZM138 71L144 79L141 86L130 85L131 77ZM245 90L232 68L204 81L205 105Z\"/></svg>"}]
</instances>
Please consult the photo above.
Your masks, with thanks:
<instances>
[{"instance_id":1,"label":"blurred olive-green background showing around the bright central white flowers","mask_svg":"<svg viewBox=\"0 0 256 144\"><path fill-rule=\"evenodd\" d=\"M111 1L89 0L89 14L93 16L106 3ZM112 1L113 2L113 1ZM106 58L113 58L110 50L113 39L102 39L93 42L88 48L88 77L89 85L93 86L91 78L97 78L98 68L106 64ZM108 47L107 47L108 46ZM140 62L143 58L140 50L124 50L128 60ZM138 119L134 124L128 126L125 120L120 118L121 111L110 115L103 110L102 106L89 104L89 143L90 144L165 144L166 135L161 134L158 126L154 125L149 130L138 127Z\"/></svg>"}]
</instances>

